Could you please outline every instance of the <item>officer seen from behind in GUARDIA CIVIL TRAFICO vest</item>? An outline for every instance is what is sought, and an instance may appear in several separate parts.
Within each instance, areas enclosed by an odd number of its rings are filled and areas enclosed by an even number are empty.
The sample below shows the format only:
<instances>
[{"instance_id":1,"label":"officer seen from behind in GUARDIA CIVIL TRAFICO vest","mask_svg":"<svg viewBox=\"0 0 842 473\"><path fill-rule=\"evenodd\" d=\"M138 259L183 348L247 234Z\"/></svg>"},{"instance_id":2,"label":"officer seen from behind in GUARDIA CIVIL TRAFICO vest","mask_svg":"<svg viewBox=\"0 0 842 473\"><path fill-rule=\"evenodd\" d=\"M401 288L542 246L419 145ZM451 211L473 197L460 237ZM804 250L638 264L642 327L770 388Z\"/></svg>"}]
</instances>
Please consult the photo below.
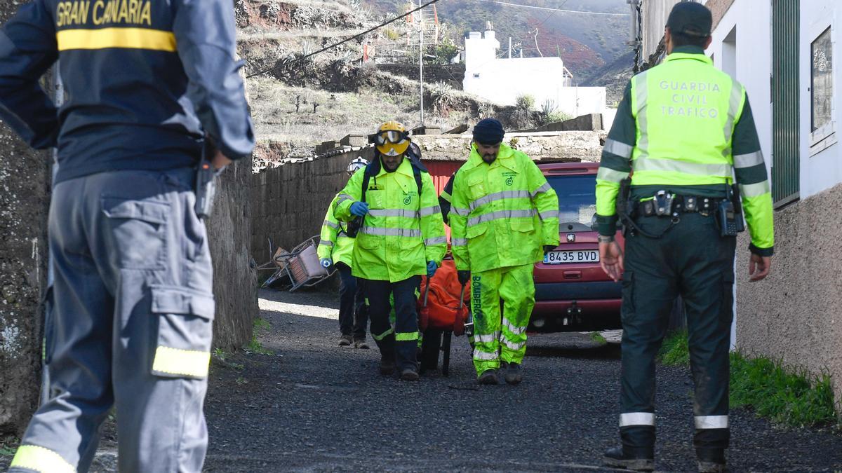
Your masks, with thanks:
<instances>
[{"instance_id":1,"label":"officer seen from behind in GUARDIA CIVIL TRAFICO vest","mask_svg":"<svg viewBox=\"0 0 842 473\"><path fill-rule=\"evenodd\" d=\"M622 447L605 453L610 466L654 467L654 359L680 295L695 383L699 470L726 468L733 262L741 214L751 231L751 280L769 274L774 237L770 186L749 100L743 86L705 56L710 34L706 7L674 6L665 32L669 56L632 77L597 174L600 263L623 284ZM622 195L626 189L628 196ZM614 242L616 209L627 231L625 261Z\"/></svg>"}]
</instances>

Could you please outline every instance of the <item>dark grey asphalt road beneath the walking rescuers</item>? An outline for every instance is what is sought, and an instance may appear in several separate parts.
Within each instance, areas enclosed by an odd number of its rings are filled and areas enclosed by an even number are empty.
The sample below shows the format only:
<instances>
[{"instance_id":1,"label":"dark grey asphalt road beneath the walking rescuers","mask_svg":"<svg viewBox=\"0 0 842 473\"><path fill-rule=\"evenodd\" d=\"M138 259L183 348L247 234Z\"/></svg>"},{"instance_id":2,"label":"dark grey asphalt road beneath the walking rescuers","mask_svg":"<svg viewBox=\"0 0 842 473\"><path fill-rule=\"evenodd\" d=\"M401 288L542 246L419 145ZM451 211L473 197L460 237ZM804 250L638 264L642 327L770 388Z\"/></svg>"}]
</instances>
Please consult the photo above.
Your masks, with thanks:
<instances>
[{"instance_id":1,"label":"dark grey asphalt road beneath the walking rescuers","mask_svg":"<svg viewBox=\"0 0 842 473\"><path fill-rule=\"evenodd\" d=\"M521 385L478 386L466 339L450 377L408 383L378 374L376 349L340 348L337 300L261 291L273 354L215 361L205 403L205 470L590 471L617 443L620 354L587 336L530 337ZM695 470L687 369L658 367L662 471ZM773 428L732 412L732 471L842 470L842 435ZM115 471L106 427L94 471Z\"/></svg>"}]
</instances>

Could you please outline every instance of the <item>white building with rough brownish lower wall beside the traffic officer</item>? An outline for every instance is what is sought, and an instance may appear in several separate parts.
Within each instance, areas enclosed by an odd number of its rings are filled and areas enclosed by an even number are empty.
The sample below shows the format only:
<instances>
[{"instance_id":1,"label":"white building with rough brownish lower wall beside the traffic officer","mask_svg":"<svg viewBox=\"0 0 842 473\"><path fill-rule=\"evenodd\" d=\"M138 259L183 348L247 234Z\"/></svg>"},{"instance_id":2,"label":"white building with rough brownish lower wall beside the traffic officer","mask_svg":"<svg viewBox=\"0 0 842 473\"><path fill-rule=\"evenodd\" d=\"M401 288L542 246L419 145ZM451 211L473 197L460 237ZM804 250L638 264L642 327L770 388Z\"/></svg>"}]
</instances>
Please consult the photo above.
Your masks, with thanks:
<instances>
[{"instance_id":1,"label":"white building with rough brownish lower wall beside the traffic officer","mask_svg":"<svg viewBox=\"0 0 842 473\"><path fill-rule=\"evenodd\" d=\"M738 246L737 348L827 369L842 402L842 2L702 3L714 16L706 53L749 94L775 202L770 277L749 283L748 239Z\"/></svg>"}]
</instances>

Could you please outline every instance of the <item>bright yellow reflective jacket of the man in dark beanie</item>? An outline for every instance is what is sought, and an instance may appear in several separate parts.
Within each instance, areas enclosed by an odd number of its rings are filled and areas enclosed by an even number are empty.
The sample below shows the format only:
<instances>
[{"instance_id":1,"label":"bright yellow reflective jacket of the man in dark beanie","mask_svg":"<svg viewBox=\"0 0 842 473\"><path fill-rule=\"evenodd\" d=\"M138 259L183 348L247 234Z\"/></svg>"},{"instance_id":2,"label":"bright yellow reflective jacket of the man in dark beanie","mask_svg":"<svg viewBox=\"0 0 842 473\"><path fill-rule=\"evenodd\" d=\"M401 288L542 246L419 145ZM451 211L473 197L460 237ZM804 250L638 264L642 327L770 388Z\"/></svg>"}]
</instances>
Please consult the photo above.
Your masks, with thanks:
<instances>
[{"instance_id":1,"label":"bright yellow reflective jacket of the man in dark beanie","mask_svg":"<svg viewBox=\"0 0 842 473\"><path fill-rule=\"evenodd\" d=\"M558 245L556 191L530 157L505 144L491 164L472 145L451 202L450 245L459 270L537 263L544 245Z\"/></svg>"}]
</instances>

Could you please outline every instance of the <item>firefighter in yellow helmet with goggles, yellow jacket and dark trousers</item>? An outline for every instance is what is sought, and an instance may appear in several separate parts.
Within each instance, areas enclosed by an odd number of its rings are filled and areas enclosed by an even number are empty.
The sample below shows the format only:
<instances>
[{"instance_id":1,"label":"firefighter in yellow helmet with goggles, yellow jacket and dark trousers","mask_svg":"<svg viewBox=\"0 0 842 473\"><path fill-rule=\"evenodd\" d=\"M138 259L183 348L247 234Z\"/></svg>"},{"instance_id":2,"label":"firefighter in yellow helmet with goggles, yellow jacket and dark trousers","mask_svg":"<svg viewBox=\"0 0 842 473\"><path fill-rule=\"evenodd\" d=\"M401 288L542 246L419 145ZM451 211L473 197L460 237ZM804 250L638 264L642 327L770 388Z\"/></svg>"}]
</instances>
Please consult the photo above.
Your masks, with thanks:
<instances>
[{"instance_id":1,"label":"firefighter in yellow helmet with goggles, yellow jacket and dark trousers","mask_svg":"<svg viewBox=\"0 0 842 473\"><path fill-rule=\"evenodd\" d=\"M415 290L421 274L432 276L445 257L445 224L433 179L418 154L408 152L404 126L386 122L370 138L376 157L339 193L334 215L360 225L352 274L365 284L381 374L391 375L397 363L402 380L418 380ZM389 322L390 295L395 327Z\"/></svg>"}]
</instances>

